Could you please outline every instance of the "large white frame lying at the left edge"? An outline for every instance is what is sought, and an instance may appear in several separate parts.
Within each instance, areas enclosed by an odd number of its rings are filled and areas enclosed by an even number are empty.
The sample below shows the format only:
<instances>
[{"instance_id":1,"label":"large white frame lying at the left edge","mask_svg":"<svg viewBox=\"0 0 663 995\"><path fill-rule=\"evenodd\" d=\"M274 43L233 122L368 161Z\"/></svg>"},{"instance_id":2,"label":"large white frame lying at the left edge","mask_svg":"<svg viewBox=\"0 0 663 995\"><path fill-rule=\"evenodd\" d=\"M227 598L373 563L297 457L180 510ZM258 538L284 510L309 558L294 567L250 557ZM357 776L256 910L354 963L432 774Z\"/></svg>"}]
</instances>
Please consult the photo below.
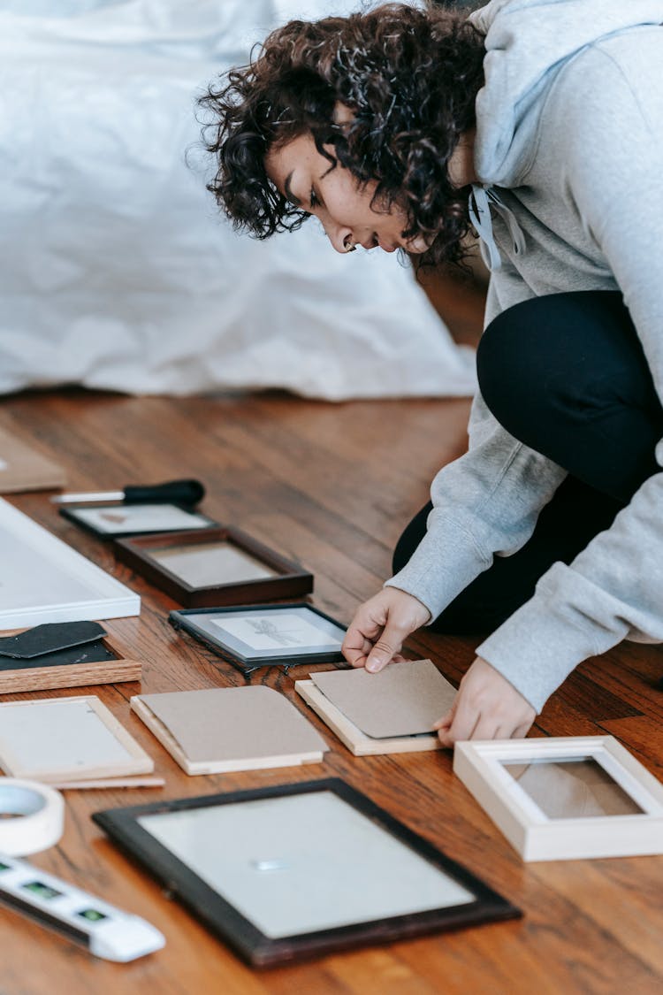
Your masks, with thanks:
<instances>
[{"instance_id":1,"label":"large white frame lying at the left edge","mask_svg":"<svg viewBox=\"0 0 663 995\"><path fill-rule=\"evenodd\" d=\"M52 535L8 501L0 498L0 530L6 528L26 548L37 550L44 570L53 574L53 588L58 590L62 578L75 578L89 587L89 597L80 601L40 605L26 603L5 608L0 589L0 630L27 629L43 622L84 622L123 618L140 613L140 597L110 574L86 559L81 553ZM17 565L20 567L20 564Z\"/></svg>"}]
</instances>

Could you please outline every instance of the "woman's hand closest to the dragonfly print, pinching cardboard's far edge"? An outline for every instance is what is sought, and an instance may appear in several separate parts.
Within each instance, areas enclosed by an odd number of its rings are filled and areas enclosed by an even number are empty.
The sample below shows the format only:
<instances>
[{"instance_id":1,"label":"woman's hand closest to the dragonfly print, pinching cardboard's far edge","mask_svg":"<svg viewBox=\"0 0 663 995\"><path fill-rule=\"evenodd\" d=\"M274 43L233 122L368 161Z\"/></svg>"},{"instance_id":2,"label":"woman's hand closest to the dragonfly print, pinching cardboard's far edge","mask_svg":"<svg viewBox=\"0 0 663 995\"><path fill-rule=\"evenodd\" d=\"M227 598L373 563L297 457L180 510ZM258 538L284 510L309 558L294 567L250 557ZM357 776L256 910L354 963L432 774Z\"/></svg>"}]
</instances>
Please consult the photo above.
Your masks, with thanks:
<instances>
[{"instance_id":1,"label":"woman's hand closest to the dragonfly print, pinching cardboard's far edge","mask_svg":"<svg viewBox=\"0 0 663 995\"><path fill-rule=\"evenodd\" d=\"M353 667L377 674L400 656L404 641L425 625L430 612L412 594L385 587L357 609L343 641L343 655Z\"/></svg>"}]
</instances>

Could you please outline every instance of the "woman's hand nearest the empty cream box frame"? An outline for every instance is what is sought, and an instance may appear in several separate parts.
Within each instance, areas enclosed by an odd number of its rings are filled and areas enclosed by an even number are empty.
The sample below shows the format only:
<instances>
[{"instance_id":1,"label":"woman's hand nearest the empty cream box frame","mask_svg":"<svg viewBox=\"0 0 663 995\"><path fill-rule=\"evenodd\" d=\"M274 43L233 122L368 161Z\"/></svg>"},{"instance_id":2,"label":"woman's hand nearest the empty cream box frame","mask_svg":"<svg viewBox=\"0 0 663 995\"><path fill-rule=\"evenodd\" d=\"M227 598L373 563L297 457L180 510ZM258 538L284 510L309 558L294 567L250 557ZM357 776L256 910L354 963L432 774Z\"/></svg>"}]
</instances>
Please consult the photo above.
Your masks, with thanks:
<instances>
[{"instance_id":1,"label":"woman's hand nearest the empty cream box frame","mask_svg":"<svg viewBox=\"0 0 663 995\"><path fill-rule=\"evenodd\" d=\"M442 746L459 739L509 739L526 735L536 711L506 678L477 657L458 694L435 724Z\"/></svg>"}]
</instances>

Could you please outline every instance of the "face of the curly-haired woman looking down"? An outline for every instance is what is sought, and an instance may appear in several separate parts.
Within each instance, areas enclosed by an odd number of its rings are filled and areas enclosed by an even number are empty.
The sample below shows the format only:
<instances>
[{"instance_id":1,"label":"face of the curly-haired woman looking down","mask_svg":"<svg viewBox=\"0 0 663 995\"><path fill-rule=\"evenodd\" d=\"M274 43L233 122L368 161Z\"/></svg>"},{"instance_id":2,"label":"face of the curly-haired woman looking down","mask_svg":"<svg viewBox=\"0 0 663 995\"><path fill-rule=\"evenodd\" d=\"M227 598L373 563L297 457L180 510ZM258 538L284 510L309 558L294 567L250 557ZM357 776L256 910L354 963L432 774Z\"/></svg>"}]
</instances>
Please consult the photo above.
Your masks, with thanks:
<instances>
[{"instance_id":1,"label":"face of the curly-haired woman looking down","mask_svg":"<svg viewBox=\"0 0 663 995\"><path fill-rule=\"evenodd\" d=\"M333 147L329 151L333 155ZM330 168L332 163L318 152L310 134L299 135L272 149L264 165L267 176L283 196L322 223L337 252L348 252L355 245L385 252L426 251L422 236L410 240L403 237L408 228L405 211L396 205L392 205L389 213L371 207L377 187L375 180L362 186L340 162Z\"/></svg>"}]
</instances>

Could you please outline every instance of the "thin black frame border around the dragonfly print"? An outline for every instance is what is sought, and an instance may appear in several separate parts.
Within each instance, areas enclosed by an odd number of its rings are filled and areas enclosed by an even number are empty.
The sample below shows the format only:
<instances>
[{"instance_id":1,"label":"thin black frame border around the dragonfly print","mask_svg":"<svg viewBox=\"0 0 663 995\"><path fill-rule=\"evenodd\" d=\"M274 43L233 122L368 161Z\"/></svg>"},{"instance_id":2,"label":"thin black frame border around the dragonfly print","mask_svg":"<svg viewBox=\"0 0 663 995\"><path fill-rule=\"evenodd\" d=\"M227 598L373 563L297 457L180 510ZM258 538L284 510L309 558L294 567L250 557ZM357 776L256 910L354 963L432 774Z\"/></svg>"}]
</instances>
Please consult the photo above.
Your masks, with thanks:
<instances>
[{"instance_id":1,"label":"thin black frame border around the dragonfly print","mask_svg":"<svg viewBox=\"0 0 663 995\"><path fill-rule=\"evenodd\" d=\"M293 654L291 657L253 657L250 660L246 657L241 656L232 650L224 641L219 637L215 639L211 633L201 629L198 625L196 618L202 615L223 615L225 613L231 612L264 612L264 611L289 611L292 608L306 608L309 612L314 615L319 615L320 618L325 619L327 622L332 622L339 629L345 631L345 627L333 619L331 615L326 615L321 612L319 608L314 608L313 605L309 605L307 601L290 602L289 604L278 604L278 605L235 605L229 608L214 608L204 609L204 608L194 608L191 611L184 612L170 612L168 616L168 621L173 626L174 629L184 629L193 636L194 639L198 640L216 653L217 656L223 657L224 660L228 660L229 663L237 667L239 671L243 674L249 675L253 671L259 670L260 667L283 667L286 671L289 667L293 667L296 664L304 664L308 667L315 664L341 664L344 663L344 657L341 651L336 652L321 652L321 653L300 653ZM349 666L345 665L344 666Z\"/></svg>"}]
</instances>

